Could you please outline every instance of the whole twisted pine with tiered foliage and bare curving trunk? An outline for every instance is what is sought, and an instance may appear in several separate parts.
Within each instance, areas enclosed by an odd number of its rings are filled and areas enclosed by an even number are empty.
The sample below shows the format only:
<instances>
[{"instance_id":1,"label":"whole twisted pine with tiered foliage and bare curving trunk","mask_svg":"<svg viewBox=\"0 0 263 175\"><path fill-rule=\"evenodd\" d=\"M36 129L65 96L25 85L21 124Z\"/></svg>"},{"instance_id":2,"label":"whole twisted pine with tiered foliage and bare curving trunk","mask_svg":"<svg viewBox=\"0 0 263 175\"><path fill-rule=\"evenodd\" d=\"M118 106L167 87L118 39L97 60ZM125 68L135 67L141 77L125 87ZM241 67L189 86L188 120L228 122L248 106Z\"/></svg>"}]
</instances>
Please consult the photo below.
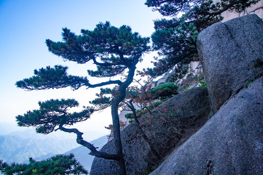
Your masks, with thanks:
<instances>
[{"instance_id":1,"label":"whole twisted pine with tiered foliage and bare curving trunk","mask_svg":"<svg viewBox=\"0 0 263 175\"><path fill-rule=\"evenodd\" d=\"M87 120L94 112L92 107L86 107L79 113L69 113L70 107L78 106L75 99L49 100L39 102L39 110L28 111L17 116L19 126L34 126L38 133L48 134L54 130L62 130L77 135L77 143L89 148L91 155L116 160L120 166L121 174L126 175L122 145L120 139L120 126L118 105L126 95L126 88L131 84L136 64L142 60L143 53L150 50L149 37L141 37L132 33L131 27L123 25L119 28L111 26L110 22L99 23L93 31L81 30L81 35L75 35L67 28L63 28L63 41L54 42L46 40L50 52L61 56L64 61L74 61L85 64L92 61L97 70L88 70L92 77L114 77L126 73L124 81L109 80L98 84L91 84L85 76L69 75L67 67L56 65L35 70L35 75L18 81L17 87L26 90L39 90L50 88L78 89L80 87L96 88L106 85L116 85L116 95L111 99L113 118L113 136L116 154L108 154L96 150L89 142L83 140L83 133L76 128L65 128L65 125Z\"/></svg>"}]
</instances>

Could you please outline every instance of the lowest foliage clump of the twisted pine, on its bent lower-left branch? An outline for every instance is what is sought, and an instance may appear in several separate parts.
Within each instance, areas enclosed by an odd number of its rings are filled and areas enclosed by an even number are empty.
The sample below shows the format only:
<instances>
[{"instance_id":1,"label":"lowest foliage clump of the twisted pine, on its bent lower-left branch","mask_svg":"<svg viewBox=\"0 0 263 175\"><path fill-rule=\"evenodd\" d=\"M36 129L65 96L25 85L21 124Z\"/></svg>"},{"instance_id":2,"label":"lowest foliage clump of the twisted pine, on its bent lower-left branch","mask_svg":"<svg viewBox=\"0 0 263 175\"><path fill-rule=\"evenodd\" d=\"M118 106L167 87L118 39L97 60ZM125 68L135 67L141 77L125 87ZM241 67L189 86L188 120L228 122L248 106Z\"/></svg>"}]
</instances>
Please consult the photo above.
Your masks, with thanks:
<instances>
[{"instance_id":1,"label":"lowest foliage clump of the twisted pine, on its bent lower-left branch","mask_svg":"<svg viewBox=\"0 0 263 175\"><path fill-rule=\"evenodd\" d=\"M34 126L37 128L36 131L42 134L51 133L59 125L73 125L86 121L94 111L93 108L86 107L81 112L68 112L70 108L78 106L75 99L51 99L38 102L38 105L38 110L18 115L16 119L19 126Z\"/></svg>"}]
</instances>

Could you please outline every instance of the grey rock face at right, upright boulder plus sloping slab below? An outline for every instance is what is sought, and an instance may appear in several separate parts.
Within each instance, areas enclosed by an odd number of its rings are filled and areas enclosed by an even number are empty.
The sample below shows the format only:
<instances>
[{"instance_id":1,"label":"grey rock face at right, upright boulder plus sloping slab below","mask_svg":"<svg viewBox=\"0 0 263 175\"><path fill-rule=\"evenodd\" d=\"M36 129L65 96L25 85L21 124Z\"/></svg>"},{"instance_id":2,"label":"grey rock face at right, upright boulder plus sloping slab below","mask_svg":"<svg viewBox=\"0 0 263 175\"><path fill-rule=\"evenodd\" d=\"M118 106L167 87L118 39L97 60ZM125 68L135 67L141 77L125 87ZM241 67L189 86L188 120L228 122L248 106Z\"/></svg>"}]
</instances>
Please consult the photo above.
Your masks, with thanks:
<instances>
[{"instance_id":1,"label":"grey rock face at right, upright boulder plus sloping slab below","mask_svg":"<svg viewBox=\"0 0 263 175\"><path fill-rule=\"evenodd\" d=\"M263 22L216 23L198 36L215 115L150 175L263 175Z\"/></svg>"}]
</instances>

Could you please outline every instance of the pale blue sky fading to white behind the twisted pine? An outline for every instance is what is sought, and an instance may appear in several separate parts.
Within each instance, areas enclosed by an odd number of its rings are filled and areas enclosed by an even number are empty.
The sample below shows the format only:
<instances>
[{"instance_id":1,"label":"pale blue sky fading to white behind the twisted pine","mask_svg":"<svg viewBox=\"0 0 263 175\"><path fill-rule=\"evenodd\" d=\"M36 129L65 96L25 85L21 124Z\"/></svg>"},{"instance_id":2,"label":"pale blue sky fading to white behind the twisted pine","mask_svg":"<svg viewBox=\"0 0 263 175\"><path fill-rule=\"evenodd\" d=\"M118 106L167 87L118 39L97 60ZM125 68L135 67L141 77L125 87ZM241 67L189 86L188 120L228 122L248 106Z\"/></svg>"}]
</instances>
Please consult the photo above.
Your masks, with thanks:
<instances>
[{"instance_id":1,"label":"pale blue sky fading to white behind the twisted pine","mask_svg":"<svg viewBox=\"0 0 263 175\"><path fill-rule=\"evenodd\" d=\"M38 101L75 98L80 106L88 105L97 89L70 88L25 91L16 81L33 75L34 69L62 64L69 73L87 75L89 65L63 62L48 52L45 39L61 40L61 29L76 34L81 29L93 30L97 23L110 21L113 26L129 25L133 32L150 36L152 20L161 18L144 5L146 0L0 0L0 122L15 122L15 116L37 109ZM152 55L145 55L150 66ZM97 79L90 79L93 83ZM112 123L110 109L94 115L81 125L83 130L103 130ZM107 132L107 130L105 130Z\"/></svg>"}]
</instances>

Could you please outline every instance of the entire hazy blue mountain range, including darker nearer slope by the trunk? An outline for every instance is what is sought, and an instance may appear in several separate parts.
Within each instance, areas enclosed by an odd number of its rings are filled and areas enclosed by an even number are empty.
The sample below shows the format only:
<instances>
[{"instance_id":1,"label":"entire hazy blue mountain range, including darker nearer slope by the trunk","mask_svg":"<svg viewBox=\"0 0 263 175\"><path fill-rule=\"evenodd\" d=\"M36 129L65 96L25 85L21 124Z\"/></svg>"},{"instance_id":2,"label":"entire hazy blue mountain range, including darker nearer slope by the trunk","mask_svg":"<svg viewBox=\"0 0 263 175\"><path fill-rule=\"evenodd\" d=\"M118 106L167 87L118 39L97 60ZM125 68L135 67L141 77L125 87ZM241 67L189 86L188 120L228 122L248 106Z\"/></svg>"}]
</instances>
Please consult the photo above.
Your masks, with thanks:
<instances>
[{"instance_id":1,"label":"entire hazy blue mountain range, including darker nearer slope by the trunk","mask_svg":"<svg viewBox=\"0 0 263 175\"><path fill-rule=\"evenodd\" d=\"M56 154L73 153L76 159L90 171L94 156L89 155L89 149L76 143L75 134L61 131L48 135L37 134L32 128L20 129L10 123L0 123L0 128L0 159L7 163L28 163L29 157L42 160ZM83 137L90 141L97 134L94 131L87 131L84 132ZM100 149L107 140L107 136L103 136L90 142Z\"/></svg>"}]
</instances>

